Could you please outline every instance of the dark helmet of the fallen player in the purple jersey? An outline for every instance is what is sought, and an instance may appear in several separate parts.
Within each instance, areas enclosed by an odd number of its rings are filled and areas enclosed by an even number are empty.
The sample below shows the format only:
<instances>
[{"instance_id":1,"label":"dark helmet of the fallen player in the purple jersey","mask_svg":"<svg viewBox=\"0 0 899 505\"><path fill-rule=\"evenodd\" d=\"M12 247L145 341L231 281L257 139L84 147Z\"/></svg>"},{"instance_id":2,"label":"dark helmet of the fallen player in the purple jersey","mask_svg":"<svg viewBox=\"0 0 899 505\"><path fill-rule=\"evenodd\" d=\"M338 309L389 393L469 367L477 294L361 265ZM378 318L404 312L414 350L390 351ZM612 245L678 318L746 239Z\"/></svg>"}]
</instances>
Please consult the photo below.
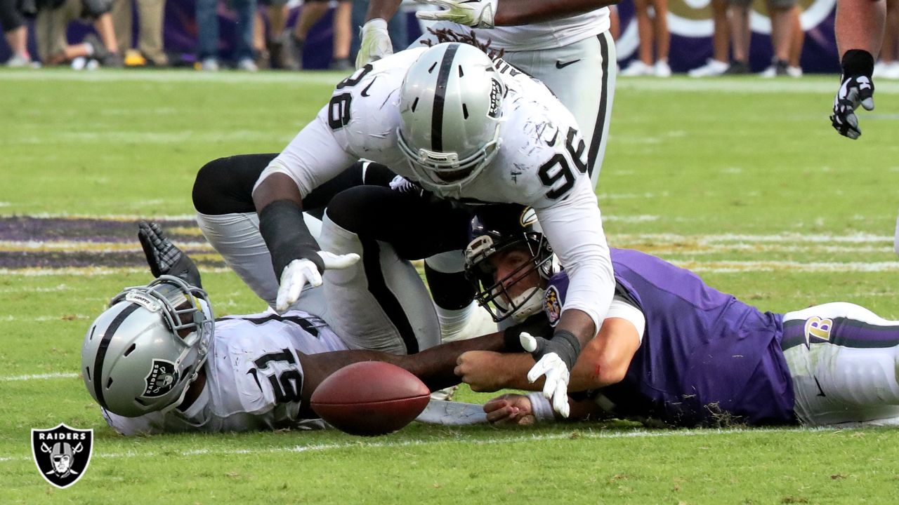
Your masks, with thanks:
<instances>
[{"instance_id":1,"label":"dark helmet of the fallen player in the purple jersey","mask_svg":"<svg viewBox=\"0 0 899 505\"><path fill-rule=\"evenodd\" d=\"M465 273L475 288L478 305L497 323L509 317L521 323L539 312L543 308L543 281L562 269L534 209L514 204L484 206L471 220L471 239L465 249ZM496 279L490 258L516 248L527 251L530 261ZM534 270L543 283L525 288L513 297L512 286L527 279L527 274Z\"/></svg>"}]
</instances>

